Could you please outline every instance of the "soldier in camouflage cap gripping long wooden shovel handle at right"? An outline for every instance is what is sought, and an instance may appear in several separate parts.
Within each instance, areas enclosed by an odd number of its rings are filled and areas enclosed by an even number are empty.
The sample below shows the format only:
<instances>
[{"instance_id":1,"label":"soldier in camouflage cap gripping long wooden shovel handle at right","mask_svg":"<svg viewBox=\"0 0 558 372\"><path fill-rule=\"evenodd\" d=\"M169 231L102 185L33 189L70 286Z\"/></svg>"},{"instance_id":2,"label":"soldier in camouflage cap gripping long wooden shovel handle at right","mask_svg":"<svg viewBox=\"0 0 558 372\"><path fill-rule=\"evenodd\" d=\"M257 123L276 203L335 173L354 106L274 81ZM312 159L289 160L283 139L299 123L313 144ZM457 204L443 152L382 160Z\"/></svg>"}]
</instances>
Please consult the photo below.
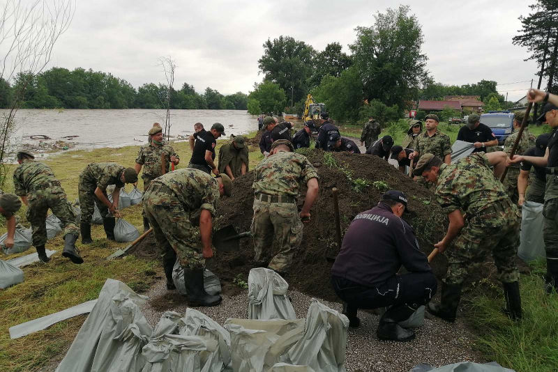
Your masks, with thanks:
<instances>
[{"instance_id":1,"label":"soldier in camouflage cap gripping long wooden shovel handle at right","mask_svg":"<svg viewBox=\"0 0 558 372\"><path fill-rule=\"evenodd\" d=\"M515 144L515 139L518 138L519 128L521 127L521 123L523 121L523 117L525 116L525 112L518 112L515 114L513 118L513 129L515 132L509 135L504 142L504 152L508 155L511 153L511 148L513 144ZM523 155L529 148L535 146L536 137L534 134L529 132L529 122L531 121L530 118L527 118L527 124L525 125L525 129L523 130L523 134L519 141L518 147L515 149L515 154ZM512 203L517 204L519 201L519 192L518 192L518 176L520 173L520 164L513 164L508 167L508 173L506 173L506 178L504 179L504 188L508 193ZM525 190L524 190L525 191Z\"/></svg>"}]
</instances>

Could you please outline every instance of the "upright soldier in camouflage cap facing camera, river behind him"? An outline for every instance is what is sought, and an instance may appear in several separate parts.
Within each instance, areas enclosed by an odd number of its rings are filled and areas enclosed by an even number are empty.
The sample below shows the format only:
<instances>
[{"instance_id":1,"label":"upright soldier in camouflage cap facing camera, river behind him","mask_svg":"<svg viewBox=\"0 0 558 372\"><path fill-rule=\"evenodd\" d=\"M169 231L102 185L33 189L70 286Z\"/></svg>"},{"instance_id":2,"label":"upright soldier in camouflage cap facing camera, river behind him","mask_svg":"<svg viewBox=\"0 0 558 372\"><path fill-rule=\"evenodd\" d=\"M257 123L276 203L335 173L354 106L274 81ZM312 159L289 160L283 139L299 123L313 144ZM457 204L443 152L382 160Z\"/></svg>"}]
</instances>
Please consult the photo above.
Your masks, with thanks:
<instances>
[{"instance_id":1,"label":"upright soldier in camouflage cap facing camera, river behind him","mask_svg":"<svg viewBox=\"0 0 558 372\"><path fill-rule=\"evenodd\" d=\"M162 155L165 155L165 171L170 170L170 163L178 165L180 157L174 151L174 148L169 144L163 143L163 128L152 127L149 130L151 142L140 147L135 159L135 171L140 174L142 166L144 166L144 173L142 173L142 180L144 180L144 191L149 187L151 180L163 174L161 164ZM144 231L149 230L149 220L142 215L144 219Z\"/></svg>"}]
</instances>

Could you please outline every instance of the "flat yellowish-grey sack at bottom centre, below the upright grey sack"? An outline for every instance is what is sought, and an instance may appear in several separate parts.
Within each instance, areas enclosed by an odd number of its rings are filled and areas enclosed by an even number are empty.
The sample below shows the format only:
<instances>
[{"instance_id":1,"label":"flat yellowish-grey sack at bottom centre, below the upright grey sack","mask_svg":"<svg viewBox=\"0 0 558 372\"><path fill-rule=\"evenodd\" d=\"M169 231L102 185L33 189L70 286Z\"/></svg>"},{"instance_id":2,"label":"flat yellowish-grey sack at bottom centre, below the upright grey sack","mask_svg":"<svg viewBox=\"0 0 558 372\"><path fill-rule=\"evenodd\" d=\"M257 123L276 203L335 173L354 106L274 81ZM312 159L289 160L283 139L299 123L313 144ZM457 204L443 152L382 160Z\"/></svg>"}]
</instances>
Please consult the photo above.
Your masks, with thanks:
<instances>
[{"instance_id":1,"label":"flat yellowish-grey sack at bottom centre, below the upright grey sack","mask_svg":"<svg viewBox=\"0 0 558 372\"><path fill-rule=\"evenodd\" d=\"M349 323L349 320L347 320ZM304 319L248 320L227 319L225 330L231 334L234 372L267 371L280 360L304 332Z\"/></svg>"}]
</instances>

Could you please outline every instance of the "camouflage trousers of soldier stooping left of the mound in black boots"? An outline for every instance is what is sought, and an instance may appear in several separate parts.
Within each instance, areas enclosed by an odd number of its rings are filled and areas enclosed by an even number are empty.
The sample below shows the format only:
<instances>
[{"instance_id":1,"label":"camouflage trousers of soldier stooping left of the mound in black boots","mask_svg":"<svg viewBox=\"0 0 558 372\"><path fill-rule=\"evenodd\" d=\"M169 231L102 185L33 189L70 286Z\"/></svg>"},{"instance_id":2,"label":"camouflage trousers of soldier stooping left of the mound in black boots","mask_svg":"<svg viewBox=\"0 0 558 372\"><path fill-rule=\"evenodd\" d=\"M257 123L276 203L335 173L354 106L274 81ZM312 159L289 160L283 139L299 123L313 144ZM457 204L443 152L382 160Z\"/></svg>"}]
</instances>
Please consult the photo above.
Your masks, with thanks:
<instances>
[{"instance_id":1,"label":"camouflage trousers of soldier stooping left of the mound in black boots","mask_svg":"<svg viewBox=\"0 0 558 372\"><path fill-rule=\"evenodd\" d=\"M204 268L199 228L190 222L190 212L184 210L172 190L160 183L151 183L143 203L163 261L174 250L183 268Z\"/></svg>"}]
</instances>

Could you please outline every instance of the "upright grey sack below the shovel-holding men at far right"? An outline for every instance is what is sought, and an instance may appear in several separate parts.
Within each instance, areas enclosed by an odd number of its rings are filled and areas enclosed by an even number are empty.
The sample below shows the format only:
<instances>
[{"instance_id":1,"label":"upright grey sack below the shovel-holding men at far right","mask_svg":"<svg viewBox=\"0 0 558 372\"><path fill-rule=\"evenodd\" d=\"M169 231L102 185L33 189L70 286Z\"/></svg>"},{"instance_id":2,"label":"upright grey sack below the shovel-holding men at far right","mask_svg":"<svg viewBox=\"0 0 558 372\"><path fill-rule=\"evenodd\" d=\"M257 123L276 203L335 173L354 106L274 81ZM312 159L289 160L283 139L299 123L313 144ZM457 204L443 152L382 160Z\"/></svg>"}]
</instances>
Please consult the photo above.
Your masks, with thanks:
<instances>
[{"instance_id":1,"label":"upright grey sack below the shovel-holding men at far right","mask_svg":"<svg viewBox=\"0 0 558 372\"><path fill-rule=\"evenodd\" d=\"M533 261L546 257L545 241L543 240L543 204L534 201L523 203L521 211L520 245L518 256L523 261Z\"/></svg>"}]
</instances>

